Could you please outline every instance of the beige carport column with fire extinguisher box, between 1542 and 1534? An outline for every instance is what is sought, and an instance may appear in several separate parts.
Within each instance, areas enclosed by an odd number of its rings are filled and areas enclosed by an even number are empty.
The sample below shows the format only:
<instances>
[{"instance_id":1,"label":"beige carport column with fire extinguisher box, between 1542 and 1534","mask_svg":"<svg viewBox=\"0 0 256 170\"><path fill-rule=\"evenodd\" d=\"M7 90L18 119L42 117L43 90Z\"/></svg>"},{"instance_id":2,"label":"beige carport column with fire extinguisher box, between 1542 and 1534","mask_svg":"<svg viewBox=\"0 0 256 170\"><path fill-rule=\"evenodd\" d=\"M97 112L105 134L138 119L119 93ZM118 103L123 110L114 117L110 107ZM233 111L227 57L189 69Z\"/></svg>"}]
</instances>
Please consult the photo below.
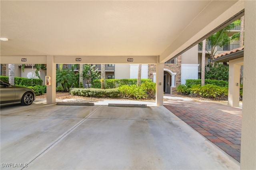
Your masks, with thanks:
<instances>
[{"instance_id":1,"label":"beige carport column with fire extinguisher box, between 1542 and 1534","mask_svg":"<svg viewBox=\"0 0 256 170\"><path fill-rule=\"evenodd\" d=\"M53 56L47 56L47 71L46 76L51 77L51 85L46 86L46 103L56 103L56 64Z\"/></svg>"}]
</instances>

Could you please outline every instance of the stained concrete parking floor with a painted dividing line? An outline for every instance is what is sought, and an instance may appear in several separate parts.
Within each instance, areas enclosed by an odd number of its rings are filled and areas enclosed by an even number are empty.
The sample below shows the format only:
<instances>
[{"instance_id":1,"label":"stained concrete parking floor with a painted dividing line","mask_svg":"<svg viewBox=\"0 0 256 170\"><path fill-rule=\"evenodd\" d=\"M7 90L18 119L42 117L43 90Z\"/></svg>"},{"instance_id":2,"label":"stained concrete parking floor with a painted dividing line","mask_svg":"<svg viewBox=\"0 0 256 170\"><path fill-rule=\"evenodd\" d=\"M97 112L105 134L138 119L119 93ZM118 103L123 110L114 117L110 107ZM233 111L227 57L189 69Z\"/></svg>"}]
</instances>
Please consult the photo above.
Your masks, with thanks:
<instances>
[{"instance_id":1,"label":"stained concrete parking floor with a painted dividing line","mask_svg":"<svg viewBox=\"0 0 256 170\"><path fill-rule=\"evenodd\" d=\"M0 111L1 169L240 169L164 106L34 102Z\"/></svg>"}]
</instances>

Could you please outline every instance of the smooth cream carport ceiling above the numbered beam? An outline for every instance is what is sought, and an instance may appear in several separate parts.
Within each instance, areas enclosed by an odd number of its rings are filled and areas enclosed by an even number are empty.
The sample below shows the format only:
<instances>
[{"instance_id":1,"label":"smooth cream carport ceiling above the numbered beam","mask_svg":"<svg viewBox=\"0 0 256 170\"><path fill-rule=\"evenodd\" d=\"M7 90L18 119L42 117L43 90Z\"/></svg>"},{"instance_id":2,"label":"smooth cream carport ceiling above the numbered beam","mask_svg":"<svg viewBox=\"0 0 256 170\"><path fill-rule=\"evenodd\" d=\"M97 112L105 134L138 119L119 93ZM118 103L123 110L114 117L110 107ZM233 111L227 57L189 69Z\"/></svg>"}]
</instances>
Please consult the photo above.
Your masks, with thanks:
<instances>
[{"instance_id":1,"label":"smooth cream carport ceiling above the numbered beam","mask_svg":"<svg viewBox=\"0 0 256 170\"><path fill-rule=\"evenodd\" d=\"M1 55L163 55L164 61L228 20L233 14L219 16L236 2L1 0L0 36L9 39L1 41Z\"/></svg>"}]
</instances>

